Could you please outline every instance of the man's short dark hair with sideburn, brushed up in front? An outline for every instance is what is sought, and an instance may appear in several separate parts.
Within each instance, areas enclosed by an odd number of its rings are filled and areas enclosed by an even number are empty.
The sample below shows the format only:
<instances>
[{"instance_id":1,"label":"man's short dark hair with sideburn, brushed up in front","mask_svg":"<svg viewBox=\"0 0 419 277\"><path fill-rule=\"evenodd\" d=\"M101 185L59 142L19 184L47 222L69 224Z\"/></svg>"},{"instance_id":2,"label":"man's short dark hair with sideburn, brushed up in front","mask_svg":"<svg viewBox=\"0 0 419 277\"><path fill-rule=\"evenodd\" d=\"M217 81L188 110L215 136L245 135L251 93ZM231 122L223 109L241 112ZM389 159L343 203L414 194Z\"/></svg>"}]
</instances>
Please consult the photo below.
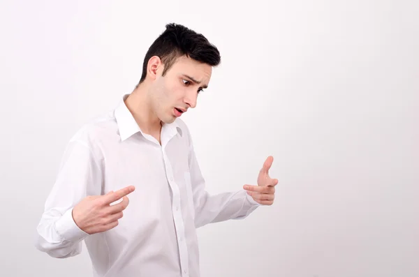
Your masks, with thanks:
<instances>
[{"instance_id":1,"label":"man's short dark hair with sideburn, brushed up in front","mask_svg":"<svg viewBox=\"0 0 419 277\"><path fill-rule=\"evenodd\" d=\"M205 36L181 24L170 23L149 47L142 64L140 83L145 80L147 63L151 57L158 56L161 59L165 65L162 73L164 76L175 60L183 55L210 66L218 66L221 62L219 50Z\"/></svg>"}]
</instances>

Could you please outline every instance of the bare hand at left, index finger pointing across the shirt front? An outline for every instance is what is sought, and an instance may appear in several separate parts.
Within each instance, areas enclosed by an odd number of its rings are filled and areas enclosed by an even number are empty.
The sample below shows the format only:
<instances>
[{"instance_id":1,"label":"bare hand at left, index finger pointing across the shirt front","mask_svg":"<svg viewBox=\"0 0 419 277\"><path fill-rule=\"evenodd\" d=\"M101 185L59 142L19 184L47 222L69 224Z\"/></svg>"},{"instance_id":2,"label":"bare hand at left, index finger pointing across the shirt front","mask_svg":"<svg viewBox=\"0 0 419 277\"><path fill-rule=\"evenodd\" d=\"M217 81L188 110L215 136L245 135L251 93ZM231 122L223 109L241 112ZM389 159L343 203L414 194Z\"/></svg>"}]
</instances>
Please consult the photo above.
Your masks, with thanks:
<instances>
[{"instance_id":1,"label":"bare hand at left, index finger pointing across the shirt front","mask_svg":"<svg viewBox=\"0 0 419 277\"><path fill-rule=\"evenodd\" d=\"M105 195L85 197L73 208L73 219L76 225L87 234L105 232L118 225L124 209L128 206L128 195L135 190L134 186L127 186ZM122 202L113 204L122 198Z\"/></svg>"}]
</instances>

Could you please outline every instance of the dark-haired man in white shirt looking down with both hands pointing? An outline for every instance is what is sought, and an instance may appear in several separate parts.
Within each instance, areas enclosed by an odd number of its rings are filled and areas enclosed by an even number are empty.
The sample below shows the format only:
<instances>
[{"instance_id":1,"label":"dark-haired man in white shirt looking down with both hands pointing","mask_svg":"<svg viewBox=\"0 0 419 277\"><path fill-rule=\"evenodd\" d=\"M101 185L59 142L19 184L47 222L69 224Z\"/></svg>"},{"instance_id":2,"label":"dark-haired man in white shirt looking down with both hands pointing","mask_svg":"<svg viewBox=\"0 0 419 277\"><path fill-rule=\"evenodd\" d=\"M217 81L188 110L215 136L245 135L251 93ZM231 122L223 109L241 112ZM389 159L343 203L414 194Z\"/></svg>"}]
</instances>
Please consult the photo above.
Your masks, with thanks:
<instances>
[{"instance_id":1,"label":"dark-haired man in white shirt looking down with both hands pointing","mask_svg":"<svg viewBox=\"0 0 419 277\"><path fill-rule=\"evenodd\" d=\"M198 277L196 228L273 203L272 157L257 185L218 195L205 190L179 117L196 107L219 63L203 35L166 26L149 47L138 86L68 143L37 227L39 250L71 257L84 241L94 276Z\"/></svg>"}]
</instances>

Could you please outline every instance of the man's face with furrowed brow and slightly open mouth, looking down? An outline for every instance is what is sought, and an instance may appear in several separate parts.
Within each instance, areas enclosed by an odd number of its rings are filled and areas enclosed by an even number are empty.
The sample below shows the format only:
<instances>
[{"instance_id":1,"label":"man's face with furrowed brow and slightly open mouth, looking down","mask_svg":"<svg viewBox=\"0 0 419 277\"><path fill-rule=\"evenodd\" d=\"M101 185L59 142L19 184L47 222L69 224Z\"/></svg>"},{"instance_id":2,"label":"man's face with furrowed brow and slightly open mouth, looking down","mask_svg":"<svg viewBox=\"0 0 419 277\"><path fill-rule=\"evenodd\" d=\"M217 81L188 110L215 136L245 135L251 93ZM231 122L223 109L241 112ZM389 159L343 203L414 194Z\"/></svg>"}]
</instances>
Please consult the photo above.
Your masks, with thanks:
<instances>
[{"instance_id":1,"label":"man's face with furrowed brow and slightly open mouth, looking down","mask_svg":"<svg viewBox=\"0 0 419 277\"><path fill-rule=\"evenodd\" d=\"M158 71L151 93L152 105L161 121L172 123L190 107L196 107L198 93L210 82L212 66L182 56L163 77L163 68Z\"/></svg>"}]
</instances>

